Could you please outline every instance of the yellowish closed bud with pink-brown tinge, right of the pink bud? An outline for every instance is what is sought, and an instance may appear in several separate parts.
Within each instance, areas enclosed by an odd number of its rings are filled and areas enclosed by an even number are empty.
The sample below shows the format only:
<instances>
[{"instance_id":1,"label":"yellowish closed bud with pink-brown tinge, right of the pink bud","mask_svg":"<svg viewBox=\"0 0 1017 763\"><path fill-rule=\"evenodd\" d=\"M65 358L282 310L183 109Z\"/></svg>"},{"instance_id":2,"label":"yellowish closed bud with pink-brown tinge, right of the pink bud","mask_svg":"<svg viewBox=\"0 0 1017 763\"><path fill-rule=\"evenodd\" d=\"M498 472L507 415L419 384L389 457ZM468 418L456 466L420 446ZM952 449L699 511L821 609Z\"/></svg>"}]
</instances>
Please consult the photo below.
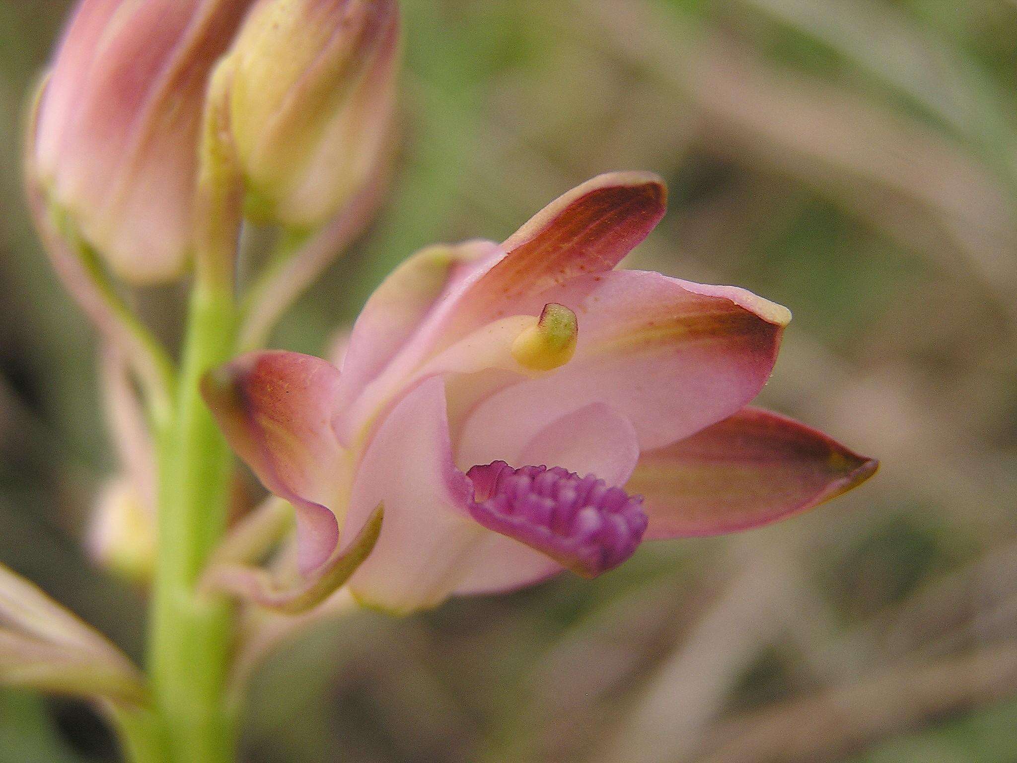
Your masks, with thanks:
<instances>
[{"instance_id":1,"label":"yellowish closed bud with pink-brown tinge, right of the pink bud","mask_svg":"<svg viewBox=\"0 0 1017 763\"><path fill-rule=\"evenodd\" d=\"M261 0L231 54L248 215L316 228L360 190L394 111L396 0Z\"/></svg>"}]
</instances>

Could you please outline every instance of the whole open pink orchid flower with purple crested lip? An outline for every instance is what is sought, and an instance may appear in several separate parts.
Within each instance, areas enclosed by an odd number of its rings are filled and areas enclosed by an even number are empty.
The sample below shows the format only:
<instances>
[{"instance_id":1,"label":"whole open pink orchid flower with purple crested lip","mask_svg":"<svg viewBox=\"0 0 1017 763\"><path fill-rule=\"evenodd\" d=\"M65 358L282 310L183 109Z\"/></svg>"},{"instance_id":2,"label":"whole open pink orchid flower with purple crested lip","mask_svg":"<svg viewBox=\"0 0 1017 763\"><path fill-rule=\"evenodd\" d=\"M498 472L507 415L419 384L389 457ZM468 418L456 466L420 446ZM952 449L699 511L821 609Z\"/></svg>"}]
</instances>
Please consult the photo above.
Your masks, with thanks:
<instances>
[{"instance_id":1,"label":"whole open pink orchid flower with purple crested lip","mask_svg":"<svg viewBox=\"0 0 1017 763\"><path fill-rule=\"evenodd\" d=\"M362 603L412 611L563 569L592 577L644 540L764 525L875 472L745 407L787 309L614 270L665 198L649 173L594 178L500 246L405 262L367 302L342 371L260 352L212 374L227 436L297 509L305 572L383 506L348 585Z\"/></svg>"}]
</instances>

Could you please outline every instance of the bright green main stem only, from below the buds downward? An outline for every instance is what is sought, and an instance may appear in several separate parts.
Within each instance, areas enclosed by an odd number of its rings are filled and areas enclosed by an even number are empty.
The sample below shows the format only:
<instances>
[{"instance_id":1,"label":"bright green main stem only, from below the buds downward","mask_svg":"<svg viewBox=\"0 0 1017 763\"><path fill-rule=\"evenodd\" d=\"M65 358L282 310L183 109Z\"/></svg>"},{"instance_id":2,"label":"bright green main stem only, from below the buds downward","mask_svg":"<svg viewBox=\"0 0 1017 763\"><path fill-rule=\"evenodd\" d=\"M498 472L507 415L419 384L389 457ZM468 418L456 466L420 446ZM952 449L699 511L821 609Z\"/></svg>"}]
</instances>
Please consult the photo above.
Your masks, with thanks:
<instances>
[{"instance_id":1,"label":"bright green main stem only, from below the buds downward","mask_svg":"<svg viewBox=\"0 0 1017 763\"><path fill-rule=\"evenodd\" d=\"M232 763L235 718L226 700L232 613L197 595L223 536L232 458L201 400L201 376L230 359L236 307L222 280L196 279L172 425L160 437L159 564L151 672L170 763Z\"/></svg>"}]
</instances>

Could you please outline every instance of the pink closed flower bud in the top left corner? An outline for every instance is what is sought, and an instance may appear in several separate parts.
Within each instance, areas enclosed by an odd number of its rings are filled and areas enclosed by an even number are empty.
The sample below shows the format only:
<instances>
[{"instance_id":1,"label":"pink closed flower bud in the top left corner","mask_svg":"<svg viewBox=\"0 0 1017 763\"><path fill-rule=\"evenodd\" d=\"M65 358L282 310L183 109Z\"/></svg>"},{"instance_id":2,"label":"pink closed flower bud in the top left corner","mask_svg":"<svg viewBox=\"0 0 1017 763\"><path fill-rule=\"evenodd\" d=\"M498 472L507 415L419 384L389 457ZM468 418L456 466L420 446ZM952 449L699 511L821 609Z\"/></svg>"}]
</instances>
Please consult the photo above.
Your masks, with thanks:
<instances>
[{"instance_id":1,"label":"pink closed flower bud in the top left corner","mask_svg":"<svg viewBox=\"0 0 1017 763\"><path fill-rule=\"evenodd\" d=\"M253 0L82 0L39 105L29 179L117 275L180 275L205 86Z\"/></svg>"}]
</instances>

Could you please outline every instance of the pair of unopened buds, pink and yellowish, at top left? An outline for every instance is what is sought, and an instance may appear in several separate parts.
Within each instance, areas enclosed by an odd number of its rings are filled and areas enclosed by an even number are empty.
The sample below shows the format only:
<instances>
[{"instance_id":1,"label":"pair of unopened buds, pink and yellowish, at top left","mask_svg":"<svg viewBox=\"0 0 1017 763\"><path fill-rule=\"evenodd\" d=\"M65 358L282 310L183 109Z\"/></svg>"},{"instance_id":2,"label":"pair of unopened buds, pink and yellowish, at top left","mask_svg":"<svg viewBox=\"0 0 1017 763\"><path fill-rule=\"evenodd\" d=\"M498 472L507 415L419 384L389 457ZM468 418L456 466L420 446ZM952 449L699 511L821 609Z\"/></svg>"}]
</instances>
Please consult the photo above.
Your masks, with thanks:
<instances>
[{"instance_id":1,"label":"pair of unopened buds, pink and yellowish, at top left","mask_svg":"<svg viewBox=\"0 0 1017 763\"><path fill-rule=\"evenodd\" d=\"M394 0L83 0L41 90L29 184L118 277L179 278L208 83L225 65L245 209L321 226L383 154L398 34Z\"/></svg>"}]
</instances>

